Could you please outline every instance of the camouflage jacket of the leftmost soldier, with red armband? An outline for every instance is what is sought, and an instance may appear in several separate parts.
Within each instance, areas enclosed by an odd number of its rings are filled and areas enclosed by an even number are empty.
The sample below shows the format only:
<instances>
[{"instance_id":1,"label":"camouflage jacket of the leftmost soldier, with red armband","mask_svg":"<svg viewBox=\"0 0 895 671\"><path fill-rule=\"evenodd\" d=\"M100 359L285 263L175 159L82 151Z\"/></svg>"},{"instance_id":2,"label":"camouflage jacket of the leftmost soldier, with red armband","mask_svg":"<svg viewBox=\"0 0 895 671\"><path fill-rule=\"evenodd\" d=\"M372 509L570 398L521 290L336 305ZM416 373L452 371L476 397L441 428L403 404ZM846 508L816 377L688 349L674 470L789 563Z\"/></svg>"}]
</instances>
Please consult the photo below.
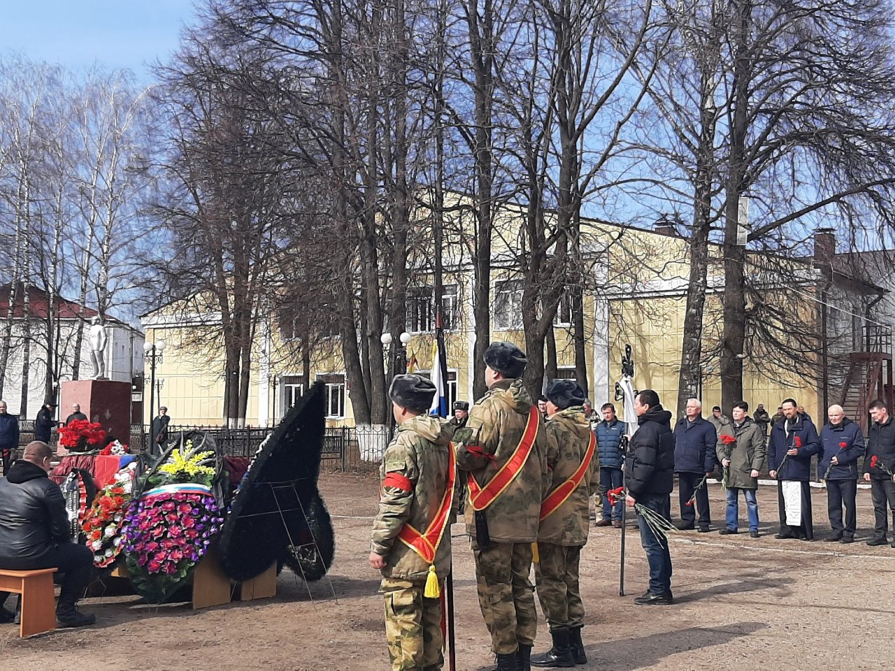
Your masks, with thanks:
<instances>
[{"instance_id":1,"label":"camouflage jacket of the leftmost soldier, with red armband","mask_svg":"<svg viewBox=\"0 0 895 671\"><path fill-rule=\"evenodd\" d=\"M425 580L429 564L397 538L405 522L425 532L437 514L447 484L447 466L452 449L446 422L420 415L406 420L382 455L379 478L396 473L410 481L409 491L383 487L379 514L373 522L371 549L386 558L382 575L405 580ZM435 555L435 570L444 579L450 570L450 527L445 527Z\"/></svg>"}]
</instances>

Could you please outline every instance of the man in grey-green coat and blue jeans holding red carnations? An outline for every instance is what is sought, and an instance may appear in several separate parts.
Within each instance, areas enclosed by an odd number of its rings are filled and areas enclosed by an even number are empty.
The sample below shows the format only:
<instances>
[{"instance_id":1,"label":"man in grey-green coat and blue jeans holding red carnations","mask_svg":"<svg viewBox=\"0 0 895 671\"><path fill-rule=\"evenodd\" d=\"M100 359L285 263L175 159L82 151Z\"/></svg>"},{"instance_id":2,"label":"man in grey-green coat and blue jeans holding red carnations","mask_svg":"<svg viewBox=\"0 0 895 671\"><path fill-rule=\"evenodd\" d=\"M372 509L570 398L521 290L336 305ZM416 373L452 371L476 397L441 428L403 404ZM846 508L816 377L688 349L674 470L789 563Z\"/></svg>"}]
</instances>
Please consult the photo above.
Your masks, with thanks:
<instances>
[{"instance_id":1,"label":"man in grey-green coat and blue jeans holding red carnations","mask_svg":"<svg viewBox=\"0 0 895 671\"><path fill-rule=\"evenodd\" d=\"M720 429L718 460L727 477L727 515L721 534L739 532L739 491L746 497L749 536L758 538L758 472L764 463L764 432L750 418L749 404L740 401L733 406L733 422ZM733 440L731 440L731 438Z\"/></svg>"}]
</instances>

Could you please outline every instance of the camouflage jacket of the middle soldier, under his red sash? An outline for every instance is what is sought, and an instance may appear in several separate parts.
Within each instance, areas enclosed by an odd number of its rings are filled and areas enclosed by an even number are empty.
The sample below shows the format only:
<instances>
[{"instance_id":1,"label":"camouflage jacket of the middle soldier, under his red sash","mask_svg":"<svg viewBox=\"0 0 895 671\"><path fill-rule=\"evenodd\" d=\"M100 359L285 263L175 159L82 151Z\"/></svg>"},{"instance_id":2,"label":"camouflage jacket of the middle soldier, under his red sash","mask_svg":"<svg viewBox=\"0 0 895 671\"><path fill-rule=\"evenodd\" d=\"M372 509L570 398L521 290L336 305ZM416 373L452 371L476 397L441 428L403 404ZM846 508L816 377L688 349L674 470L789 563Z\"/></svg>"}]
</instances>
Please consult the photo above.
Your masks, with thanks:
<instances>
[{"instance_id":1,"label":"camouflage jacket of the middle soldier, under his red sash","mask_svg":"<svg viewBox=\"0 0 895 671\"><path fill-rule=\"evenodd\" d=\"M476 482L484 487L516 450L531 409L532 397L521 379L499 380L491 386L473 405L466 426L454 434L457 467L472 472ZM490 539L494 542L532 543L538 538L541 498L550 485L546 457L547 435L539 414L538 434L522 471L485 508ZM475 536L475 514L468 495L465 520L466 532Z\"/></svg>"}]
</instances>

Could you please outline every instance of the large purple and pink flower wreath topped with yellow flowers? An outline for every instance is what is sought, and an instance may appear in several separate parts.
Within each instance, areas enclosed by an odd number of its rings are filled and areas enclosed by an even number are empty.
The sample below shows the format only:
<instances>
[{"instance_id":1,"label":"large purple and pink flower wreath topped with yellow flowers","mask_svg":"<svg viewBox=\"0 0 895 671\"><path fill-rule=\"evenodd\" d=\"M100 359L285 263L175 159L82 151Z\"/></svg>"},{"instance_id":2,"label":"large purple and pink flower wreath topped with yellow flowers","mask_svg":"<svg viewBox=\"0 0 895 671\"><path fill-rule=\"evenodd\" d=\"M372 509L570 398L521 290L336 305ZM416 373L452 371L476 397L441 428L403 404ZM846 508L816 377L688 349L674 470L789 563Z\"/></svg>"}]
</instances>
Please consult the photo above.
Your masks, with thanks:
<instances>
[{"instance_id":1,"label":"large purple and pink flower wreath topped with yellow flowers","mask_svg":"<svg viewBox=\"0 0 895 671\"><path fill-rule=\"evenodd\" d=\"M124 555L131 582L152 603L168 599L192 576L223 522L211 485L215 453L186 441L142 483L124 517Z\"/></svg>"}]
</instances>

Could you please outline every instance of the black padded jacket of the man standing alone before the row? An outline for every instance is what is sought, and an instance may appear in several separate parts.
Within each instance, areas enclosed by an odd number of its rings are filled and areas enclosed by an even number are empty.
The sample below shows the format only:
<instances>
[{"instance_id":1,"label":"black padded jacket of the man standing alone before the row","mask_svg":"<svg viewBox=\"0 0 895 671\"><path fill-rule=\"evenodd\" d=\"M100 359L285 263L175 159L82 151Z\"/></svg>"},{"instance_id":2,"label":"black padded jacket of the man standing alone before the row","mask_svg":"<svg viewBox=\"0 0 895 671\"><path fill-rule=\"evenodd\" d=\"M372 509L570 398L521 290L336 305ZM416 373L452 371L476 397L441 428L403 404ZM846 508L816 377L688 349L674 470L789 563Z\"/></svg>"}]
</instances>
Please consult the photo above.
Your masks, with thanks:
<instances>
[{"instance_id":1,"label":"black padded jacket of the man standing alone before the row","mask_svg":"<svg viewBox=\"0 0 895 671\"><path fill-rule=\"evenodd\" d=\"M661 403L637 418L627 445L625 483L636 498L670 494L674 488L674 435L671 413Z\"/></svg>"}]
</instances>

